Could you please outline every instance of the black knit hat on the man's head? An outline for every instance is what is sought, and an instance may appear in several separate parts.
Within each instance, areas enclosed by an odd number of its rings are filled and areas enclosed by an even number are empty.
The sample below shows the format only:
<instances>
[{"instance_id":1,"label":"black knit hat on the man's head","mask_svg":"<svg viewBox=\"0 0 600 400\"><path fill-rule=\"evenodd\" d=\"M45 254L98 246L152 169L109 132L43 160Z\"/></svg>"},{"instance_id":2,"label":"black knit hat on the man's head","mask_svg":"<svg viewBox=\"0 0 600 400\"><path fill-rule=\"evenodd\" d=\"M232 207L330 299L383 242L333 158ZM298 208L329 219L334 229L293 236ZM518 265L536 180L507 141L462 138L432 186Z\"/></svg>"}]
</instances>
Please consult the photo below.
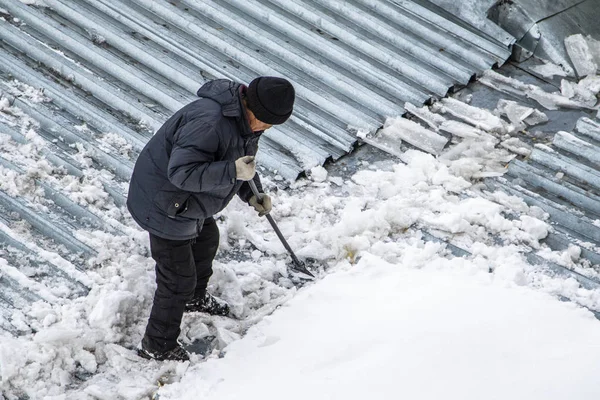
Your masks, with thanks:
<instances>
[{"instance_id":1,"label":"black knit hat on the man's head","mask_svg":"<svg viewBox=\"0 0 600 400\"><path fill-rule=\"evenodd\" d=\"M283 78L261 76L248 85L248 108L265 124L283 124L292 115L296 92Z\"/></svg>"}]
</instances>

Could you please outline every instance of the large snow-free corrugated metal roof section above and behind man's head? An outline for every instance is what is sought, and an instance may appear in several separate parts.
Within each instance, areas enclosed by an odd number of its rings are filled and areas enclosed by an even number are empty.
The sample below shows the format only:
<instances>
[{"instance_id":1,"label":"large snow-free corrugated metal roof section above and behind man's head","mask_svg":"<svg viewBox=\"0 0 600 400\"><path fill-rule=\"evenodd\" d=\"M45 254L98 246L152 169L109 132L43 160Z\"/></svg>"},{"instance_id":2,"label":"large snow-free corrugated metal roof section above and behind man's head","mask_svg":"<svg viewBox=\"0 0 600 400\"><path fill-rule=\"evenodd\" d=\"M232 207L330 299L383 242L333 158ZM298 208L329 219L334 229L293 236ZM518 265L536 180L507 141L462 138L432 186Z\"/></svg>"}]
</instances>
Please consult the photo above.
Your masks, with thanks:
<instances>
[{"instance_id":1,"label":"large snow-free corrugated metal roof section above and behind man's head","mask_svg":"<svg viewBox=\"0 0 600 400\"><path fill-rule=\"evenodd\" d=\"M286 76L297 88L296 112L266 136L291 159L261 158L288 179L350 151L348 126L377 129L404 101L443 96L509 56L506 44L412 1L0 4L25 22L3 29L7 44L152 129L207 79Z\"/></svg>"}]
</instances>

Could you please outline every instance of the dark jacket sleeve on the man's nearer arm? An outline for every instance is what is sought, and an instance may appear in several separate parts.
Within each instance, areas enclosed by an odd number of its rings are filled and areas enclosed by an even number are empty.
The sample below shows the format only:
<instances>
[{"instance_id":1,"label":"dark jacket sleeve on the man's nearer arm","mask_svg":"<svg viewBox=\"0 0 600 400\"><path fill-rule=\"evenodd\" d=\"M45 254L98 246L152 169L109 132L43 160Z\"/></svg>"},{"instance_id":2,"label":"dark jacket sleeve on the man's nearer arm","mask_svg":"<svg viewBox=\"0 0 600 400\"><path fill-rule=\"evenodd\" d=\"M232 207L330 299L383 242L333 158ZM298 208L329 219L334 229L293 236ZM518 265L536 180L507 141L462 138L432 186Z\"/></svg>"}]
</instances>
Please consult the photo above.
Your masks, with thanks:
<instances>
[{"instance_id":1,"label":"dark jacket sleeve on the man's nearer arm","mask_svg":"<svg viewBox=\"0 0 600 400\"><path fill-rule=\"evenodd\" d=\"M167 175L188 192L209 192L236 182L234 161L215 161L220 137L214 124L191 120L174 136Z\"/></svg>"}]
</instances>

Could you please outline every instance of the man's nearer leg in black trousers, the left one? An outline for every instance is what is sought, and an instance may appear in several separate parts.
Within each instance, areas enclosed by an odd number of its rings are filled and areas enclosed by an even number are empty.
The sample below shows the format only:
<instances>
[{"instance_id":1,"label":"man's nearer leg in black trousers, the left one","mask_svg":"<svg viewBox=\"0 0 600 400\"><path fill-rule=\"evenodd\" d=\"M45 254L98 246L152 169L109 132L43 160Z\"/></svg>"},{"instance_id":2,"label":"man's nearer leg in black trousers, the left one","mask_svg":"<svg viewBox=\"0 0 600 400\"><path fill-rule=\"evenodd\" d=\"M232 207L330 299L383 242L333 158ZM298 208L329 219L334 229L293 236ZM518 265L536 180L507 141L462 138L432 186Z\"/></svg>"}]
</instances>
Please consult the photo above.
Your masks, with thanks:
<instances>
[{"instance_id":1,"label":"man's nearer leg in black trousers, the left one","mask_svg":"<svg viewBox=\"0 0 600 400\"><path fill-rule=\"evenodd\" d=\"M177 347L185 304L192 298L196 287L191 242L150 234L157 287L144 337L144 346L148 350L164 352Z\"/></svg>"}]
</instances>

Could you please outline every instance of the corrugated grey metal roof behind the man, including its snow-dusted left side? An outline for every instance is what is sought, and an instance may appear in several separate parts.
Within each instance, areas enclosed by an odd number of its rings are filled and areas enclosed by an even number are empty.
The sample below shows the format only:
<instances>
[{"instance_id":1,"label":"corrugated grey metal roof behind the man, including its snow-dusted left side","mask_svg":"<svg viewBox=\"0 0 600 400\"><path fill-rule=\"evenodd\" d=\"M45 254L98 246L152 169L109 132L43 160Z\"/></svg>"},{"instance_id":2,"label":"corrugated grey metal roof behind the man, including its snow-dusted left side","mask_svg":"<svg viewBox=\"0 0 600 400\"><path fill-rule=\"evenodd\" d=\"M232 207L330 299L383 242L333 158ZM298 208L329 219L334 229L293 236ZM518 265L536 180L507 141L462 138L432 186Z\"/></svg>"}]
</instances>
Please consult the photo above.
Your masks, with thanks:
<instances>
[{"instance_id":1,"label":"corrugated grey metal roof behind the man, including its snow-dusted left side","mask_svg":"<svg viewBox=\"0 0 600 400\"><path fill-rule=\"evenodd\" d=\"M265 133L259 152L262 166L293 180L350 151L356 129L374 131L402 114L405 101L444 96L510 55L506 43L426 1L46 4L0 0L0 94L39 123L44 143L34 144L13 115L0 113L0 133L17 147L33 146L62 174L93 174L118 206L152 131L207 80L277 75L294 83L293 117ZM49 101L11 96L17 81L43 88ZM108 133L126 144L104 140ZM11 151L0 156L0 167L26 173ZM0 191L5 329L16 330L13 308L87 292L85 271L97 252L78 232L126 229L79 204L61 184L36 181L35 196ZM15 229L20 222L33 228L30 236Z\"/></svg>"}]
</instances>

